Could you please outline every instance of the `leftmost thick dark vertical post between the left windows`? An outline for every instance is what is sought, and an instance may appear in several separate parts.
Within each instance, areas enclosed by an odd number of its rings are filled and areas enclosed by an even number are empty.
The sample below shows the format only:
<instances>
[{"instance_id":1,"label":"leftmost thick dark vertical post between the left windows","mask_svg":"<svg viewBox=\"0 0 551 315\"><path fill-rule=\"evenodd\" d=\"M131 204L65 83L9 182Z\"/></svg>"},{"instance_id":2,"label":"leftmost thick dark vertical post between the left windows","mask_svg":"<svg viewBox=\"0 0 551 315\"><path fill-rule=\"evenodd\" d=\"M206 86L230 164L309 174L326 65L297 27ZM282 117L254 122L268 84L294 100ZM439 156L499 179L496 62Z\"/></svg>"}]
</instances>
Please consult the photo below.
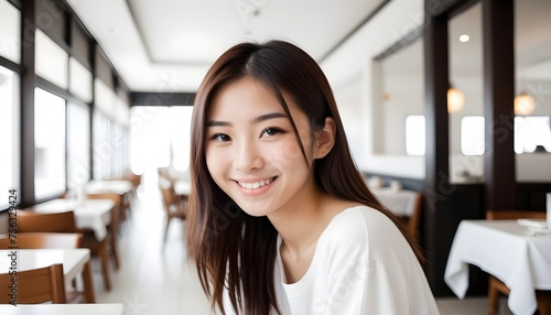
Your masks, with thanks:
<instances>
[{"instance_id":1,"label":"leftmost thick dark vertical post between the left windows","mask_svg":"<svg viewBox=\"0 0 551 315\"><path fill-rule=\"evenodd\" d=\"M34 31L35 1L23 0L21 10L21 206L34 204Z\"/></svg>"}]
</instances>

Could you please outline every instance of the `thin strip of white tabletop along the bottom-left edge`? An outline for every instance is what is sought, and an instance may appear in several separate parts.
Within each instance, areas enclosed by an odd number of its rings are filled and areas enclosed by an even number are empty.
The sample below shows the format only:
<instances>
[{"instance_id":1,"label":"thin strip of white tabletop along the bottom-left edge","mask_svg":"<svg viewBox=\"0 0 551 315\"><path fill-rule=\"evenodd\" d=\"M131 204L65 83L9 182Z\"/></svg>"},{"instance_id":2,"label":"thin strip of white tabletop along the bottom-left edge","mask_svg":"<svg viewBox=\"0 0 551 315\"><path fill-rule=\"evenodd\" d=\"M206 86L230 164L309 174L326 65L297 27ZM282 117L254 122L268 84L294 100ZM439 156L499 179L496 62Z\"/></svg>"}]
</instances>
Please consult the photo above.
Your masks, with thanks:
<instances>
[{"instance_id":1,"label":"thin strip of white tabletop along the bottom-left edge","mask_svg":"<svg viewBox=\"0 0 551 315\"><path fill-rule=\"evenodd\" d=\"M0 304L2 315L122 315L123 304Z\"/></svg>"}]
</instances>

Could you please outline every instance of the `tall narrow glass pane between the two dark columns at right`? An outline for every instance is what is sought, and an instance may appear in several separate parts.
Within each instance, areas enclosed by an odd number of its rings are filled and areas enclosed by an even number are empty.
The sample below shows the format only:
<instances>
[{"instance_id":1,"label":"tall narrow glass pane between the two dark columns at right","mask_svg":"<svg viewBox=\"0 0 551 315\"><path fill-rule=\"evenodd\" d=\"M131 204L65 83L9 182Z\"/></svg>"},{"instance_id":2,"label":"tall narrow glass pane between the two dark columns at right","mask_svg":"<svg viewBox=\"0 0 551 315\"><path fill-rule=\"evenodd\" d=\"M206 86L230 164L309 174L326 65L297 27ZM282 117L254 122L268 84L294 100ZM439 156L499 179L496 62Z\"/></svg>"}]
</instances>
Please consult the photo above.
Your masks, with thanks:
<instances>
[{"instance_id":1,"label":"tall narrow glass pane between the two dark columns at right","mask_svg":"<svg viewBox=\"0 0 551 315\"><path fill-rule=\"evenodd\" d=\"M484 62L483 13L478 2L449 24L450 180L452 183L484 178ZM452 93L462 95L454 104ZM482 119L482 120L480 120Z\"/></svg>"}]
</instances>

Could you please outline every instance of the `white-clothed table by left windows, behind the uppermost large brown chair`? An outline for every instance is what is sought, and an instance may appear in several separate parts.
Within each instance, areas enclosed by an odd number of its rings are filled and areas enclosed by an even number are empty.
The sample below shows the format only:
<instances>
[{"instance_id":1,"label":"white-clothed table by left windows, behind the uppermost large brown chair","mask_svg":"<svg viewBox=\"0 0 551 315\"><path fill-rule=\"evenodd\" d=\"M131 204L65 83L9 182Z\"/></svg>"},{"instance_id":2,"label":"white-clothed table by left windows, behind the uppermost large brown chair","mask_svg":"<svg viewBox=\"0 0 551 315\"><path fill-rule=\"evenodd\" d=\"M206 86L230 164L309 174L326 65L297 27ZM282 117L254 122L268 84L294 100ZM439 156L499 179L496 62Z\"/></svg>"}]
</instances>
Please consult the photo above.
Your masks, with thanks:
<instances>
[{"instance_id":1,"label":"white-clothed table by left windows, behind the uppermost large brown chair","mask_svg":"<svg viewBox=\"0 0 551 315\"><path fill-rule=\"evenodd\" d=\"M115 203L109 199L85 199L78 204L76 199L53 199L34 205L30 210L51 214L74 211L75 224L80 229L91 229L98 240L107 236L107 226L111 222L111 209Z\"/></svg>"}]
</instances>

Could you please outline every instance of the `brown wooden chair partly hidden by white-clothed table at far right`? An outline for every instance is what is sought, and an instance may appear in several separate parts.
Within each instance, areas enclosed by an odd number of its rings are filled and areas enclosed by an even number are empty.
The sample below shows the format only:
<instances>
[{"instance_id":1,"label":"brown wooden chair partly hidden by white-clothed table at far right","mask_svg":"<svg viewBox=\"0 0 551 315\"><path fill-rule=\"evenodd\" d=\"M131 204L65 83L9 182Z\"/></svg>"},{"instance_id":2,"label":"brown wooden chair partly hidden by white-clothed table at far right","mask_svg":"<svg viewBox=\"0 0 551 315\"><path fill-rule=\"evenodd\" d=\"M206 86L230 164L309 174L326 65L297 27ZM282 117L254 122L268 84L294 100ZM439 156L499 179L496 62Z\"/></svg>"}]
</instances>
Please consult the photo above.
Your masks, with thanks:
<instances>
[{"instance_id":1,"label":"brown wooden chair partly hidden by white-clothed table at far right","mask_svg":"<svg viewBox=\"0 0 551 315\"><path fill-rule=\"evenodd\" d=\"M486 219L488 220L514 220L518 218L530 218L530 219L545 219L545 213L543 211L493 211L488 210L486 213ZM510 290L499 279L494 275L489 276L488 284L488 301L489 309L488 314L495 315L499 314L499 297L500 295L509 295ZM540 315L551 315L551 291L536 291L536 297L538 301L538 309Z\"/></svg>"}]
</instances>

